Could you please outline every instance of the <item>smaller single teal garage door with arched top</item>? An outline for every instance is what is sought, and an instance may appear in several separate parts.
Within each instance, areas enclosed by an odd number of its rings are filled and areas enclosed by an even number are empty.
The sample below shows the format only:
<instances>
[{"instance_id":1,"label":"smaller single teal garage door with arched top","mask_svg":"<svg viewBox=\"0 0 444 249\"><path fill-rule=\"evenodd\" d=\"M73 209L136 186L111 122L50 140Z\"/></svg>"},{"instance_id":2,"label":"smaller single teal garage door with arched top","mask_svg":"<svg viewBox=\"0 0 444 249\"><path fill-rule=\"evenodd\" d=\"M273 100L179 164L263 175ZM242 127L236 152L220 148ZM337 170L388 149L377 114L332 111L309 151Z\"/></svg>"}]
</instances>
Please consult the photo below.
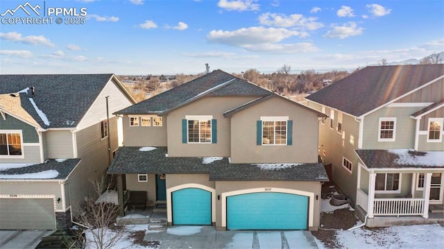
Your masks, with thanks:
<instances>
[{"instance_id":1,"label":"smaller single teal garage door with arched top","mask_svg":"<svg viewBox=\"0 0 444 249\"><path fill-rule=\"evenodd\" d=\"M173 225L211 225L211 192L188 188L173 192Z\"/></svg>"}]
</instances>

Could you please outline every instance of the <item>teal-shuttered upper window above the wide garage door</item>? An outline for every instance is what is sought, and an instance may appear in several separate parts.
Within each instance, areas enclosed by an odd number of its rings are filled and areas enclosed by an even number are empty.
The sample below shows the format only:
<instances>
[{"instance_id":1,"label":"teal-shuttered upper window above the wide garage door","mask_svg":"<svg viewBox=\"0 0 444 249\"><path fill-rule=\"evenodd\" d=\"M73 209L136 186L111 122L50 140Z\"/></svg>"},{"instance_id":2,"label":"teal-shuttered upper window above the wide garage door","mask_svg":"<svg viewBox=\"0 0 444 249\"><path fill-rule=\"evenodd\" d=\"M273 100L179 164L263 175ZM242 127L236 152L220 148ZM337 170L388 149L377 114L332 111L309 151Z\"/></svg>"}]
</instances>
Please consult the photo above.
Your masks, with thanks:
<instances>
[{"instance_id":1,"label":"teal-shuttered upper window above the wide garage door","mask_svg":"<svg viewBox=\"0 0 444 249\"><path fill-rule=\"evenodd\" d=\"M291 145L292 126L289 117L261 117L257 121L257 145Z\"/></svg>"}]
</instances>

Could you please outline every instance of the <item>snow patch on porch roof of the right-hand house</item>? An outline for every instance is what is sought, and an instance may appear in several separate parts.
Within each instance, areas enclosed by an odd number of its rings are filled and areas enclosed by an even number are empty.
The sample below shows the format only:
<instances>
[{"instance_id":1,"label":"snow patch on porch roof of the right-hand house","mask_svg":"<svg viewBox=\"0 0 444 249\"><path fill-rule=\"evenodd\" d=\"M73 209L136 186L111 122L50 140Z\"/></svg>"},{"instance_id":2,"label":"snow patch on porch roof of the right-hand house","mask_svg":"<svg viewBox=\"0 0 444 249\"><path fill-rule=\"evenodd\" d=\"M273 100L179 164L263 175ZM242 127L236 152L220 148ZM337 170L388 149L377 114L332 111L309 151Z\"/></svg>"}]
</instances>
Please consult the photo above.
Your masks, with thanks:
<instances>
[{"instance_id":1,"label":"snow patch on porch roof of the right-hand house","mask_svg":"<svg viewBox=\"0 0 444 249\"><path fill-rule=\"evenodd\" d=\"M400 165L443 166L444 151L414 151L413 149L393 149L388 153L398 155L395 161Z\"/></svg>"}]
</instances>

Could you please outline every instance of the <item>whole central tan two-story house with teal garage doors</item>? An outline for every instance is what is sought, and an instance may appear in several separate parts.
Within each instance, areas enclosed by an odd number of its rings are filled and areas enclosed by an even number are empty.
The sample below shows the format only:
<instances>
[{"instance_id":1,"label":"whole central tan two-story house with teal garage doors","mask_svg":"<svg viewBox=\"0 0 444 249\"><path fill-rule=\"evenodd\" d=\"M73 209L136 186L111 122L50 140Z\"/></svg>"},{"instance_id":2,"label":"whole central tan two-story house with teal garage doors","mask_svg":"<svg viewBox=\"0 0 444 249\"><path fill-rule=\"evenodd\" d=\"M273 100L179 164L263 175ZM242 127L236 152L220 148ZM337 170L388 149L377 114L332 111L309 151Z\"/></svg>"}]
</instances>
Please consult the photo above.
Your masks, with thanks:
<instances>
[{"instance_id":1,"label":"whole central tan two-story house with teal garage doors","mask_svg":"<svg viewBox=\"0 0 444 249\"><path fill-rule=\"evenodd\" d=\"M115 114L119 203L144 191L169 225L318 229L321 112L216 70Z\"/></svg>"}]
</instances>

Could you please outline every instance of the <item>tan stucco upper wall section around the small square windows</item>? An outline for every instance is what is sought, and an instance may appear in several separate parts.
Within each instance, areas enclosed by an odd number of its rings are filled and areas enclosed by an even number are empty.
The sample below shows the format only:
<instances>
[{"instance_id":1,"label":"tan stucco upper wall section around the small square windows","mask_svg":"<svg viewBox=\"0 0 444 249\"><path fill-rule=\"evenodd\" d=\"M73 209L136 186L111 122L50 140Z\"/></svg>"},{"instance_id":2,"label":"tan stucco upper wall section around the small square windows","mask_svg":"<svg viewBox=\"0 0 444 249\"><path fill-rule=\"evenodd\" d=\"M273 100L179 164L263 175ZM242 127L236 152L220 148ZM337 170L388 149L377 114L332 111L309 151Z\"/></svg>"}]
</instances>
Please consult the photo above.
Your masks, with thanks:
<instances>
[{"instance_id":1,"label":"tan stucco upper wall section around the small square windows","mask_svg":"<svg viewBox=\"0 0 444 249\"><path fill-rule=\"evenodd\" d=\"M139 118L139 126L130 126L130 117ZM162 126L142 126L141 117L145 116L123 115L123 145L167 146L167 117L162 117Z\"/></svg>"}]
</instances>

